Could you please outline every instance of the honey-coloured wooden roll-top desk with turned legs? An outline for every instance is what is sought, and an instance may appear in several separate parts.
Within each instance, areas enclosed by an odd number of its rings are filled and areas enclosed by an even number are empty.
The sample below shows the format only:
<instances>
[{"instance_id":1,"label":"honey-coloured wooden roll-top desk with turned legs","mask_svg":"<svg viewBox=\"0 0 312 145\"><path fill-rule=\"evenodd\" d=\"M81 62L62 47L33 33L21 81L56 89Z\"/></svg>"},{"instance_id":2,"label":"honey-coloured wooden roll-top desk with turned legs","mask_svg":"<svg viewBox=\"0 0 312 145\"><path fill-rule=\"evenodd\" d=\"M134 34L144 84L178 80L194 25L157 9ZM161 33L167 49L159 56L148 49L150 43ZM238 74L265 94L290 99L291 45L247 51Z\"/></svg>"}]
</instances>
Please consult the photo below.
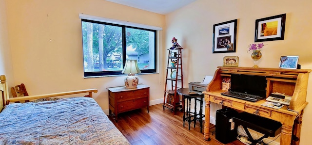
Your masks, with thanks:
<instances>
[{"instance_id":1,"label":"honey-coloured wooden roll-top desk with turned legs","mask_svg":"<svg viewBox=\"0 0 312 145\"><path fill-rule=\"evenodd\" d=\"M303 110L307 106L307 86L310 69L279 69L279 68L252 68L252 67L222 67L218 66L213 80L207 85L205 94L205 127L204 139L210 141L210 103L221 104L239 111L254 113L262 117L276 120L282 124L280 145L299 145L300 128ZM222 80L230 78L231 74L266 76L266 97L271 93L285 93L292 96L289 106L281 109L273 109L260 104L266 100L250 102L233 97L222 96ZM299 140L292 141L292 135Z\"/></svg>"}]
</instances>

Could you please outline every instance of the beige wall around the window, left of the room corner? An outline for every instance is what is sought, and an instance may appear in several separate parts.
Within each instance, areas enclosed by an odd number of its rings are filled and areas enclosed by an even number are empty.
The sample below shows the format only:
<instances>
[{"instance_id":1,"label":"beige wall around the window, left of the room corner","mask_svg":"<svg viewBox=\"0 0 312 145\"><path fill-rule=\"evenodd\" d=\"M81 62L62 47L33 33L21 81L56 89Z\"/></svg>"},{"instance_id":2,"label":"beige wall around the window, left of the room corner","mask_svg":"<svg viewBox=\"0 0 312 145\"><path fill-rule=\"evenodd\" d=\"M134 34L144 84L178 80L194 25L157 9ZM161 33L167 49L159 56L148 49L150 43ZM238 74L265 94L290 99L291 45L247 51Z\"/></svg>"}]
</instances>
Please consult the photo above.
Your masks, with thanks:
<instances>
[{"instance_id":1,"label":"beige wall around the window, left of the room corner","mask_svg":"<svg viewBox=\"0 0 312 145\"><path fill-rule=\"evenodd\" d=\"M164 27L165 23L164 15L106 0L5 0L5 2L9 35L7 42L13 54L13 73L8 72L6 75L14 76L14 81L9 81L15 85L25 83L27 92L31 95L96 88L98 93L94 98L103 110L108 110L106 88L124 85L124 76L83 78L79 14L157 27ZM162 48L162 43L158 47ZM162 100L163 94L159 94L164 88L162 72L138 77L140 83L151 86L151 100Z\"/></svg>"}]
</instances>

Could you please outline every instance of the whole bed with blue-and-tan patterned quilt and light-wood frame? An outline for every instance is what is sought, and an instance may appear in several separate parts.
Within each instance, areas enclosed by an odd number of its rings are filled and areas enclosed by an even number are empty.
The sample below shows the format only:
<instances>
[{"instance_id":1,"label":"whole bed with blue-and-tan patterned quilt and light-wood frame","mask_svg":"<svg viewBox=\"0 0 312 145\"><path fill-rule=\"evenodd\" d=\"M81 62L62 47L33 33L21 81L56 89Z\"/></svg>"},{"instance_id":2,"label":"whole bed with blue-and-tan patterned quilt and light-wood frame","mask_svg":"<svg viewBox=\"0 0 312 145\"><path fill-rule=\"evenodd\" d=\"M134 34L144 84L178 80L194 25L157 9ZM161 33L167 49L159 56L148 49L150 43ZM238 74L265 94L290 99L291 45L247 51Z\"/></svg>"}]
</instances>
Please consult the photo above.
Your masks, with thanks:
<instances>
[{"instance_id":1,"label":"whole bed with blue-and-tan patterned quilt and light-wood frame","mask_svg":"<svg viewBox=\"0 0 312 145\"><path fill-rule=\"evenodd\" d=\"M0 80L0 145L130 145L92 98L96 89L9 98Z\"/></svg>"}]
</instances>

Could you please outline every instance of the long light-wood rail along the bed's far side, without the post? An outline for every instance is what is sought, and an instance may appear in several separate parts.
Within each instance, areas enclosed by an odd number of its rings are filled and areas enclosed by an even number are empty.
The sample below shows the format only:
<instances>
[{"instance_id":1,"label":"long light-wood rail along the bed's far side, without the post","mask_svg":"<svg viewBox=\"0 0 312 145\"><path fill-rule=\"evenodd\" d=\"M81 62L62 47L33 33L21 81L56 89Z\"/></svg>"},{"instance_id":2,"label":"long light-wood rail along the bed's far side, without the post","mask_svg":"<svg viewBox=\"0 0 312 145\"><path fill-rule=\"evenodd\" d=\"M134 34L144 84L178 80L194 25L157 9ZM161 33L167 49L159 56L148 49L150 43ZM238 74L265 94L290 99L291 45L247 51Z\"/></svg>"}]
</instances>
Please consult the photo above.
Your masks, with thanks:
<instances>
[{"instance_id":1,"label":"long light-wood rail along the bed's far side, without the post","mask_svg":"<svg viewBox=\"0 0 312 145\"><path fill-rule=\"evenodd\" d=\"M8 105L10 102L33 100L33 99L39 99L39 98L45 98L45 97L59 97L59 96L74 95L74 94L81 94L81 93L88 93L88 95L84 97L92 97L92 93L97 93L97 92L98 92L97 89L86 89L86 90L41 94L41 95L33 95L33 96L13 97L13 98L9 98L6 101L6 105Z\"/></svg>"}]
</instances>

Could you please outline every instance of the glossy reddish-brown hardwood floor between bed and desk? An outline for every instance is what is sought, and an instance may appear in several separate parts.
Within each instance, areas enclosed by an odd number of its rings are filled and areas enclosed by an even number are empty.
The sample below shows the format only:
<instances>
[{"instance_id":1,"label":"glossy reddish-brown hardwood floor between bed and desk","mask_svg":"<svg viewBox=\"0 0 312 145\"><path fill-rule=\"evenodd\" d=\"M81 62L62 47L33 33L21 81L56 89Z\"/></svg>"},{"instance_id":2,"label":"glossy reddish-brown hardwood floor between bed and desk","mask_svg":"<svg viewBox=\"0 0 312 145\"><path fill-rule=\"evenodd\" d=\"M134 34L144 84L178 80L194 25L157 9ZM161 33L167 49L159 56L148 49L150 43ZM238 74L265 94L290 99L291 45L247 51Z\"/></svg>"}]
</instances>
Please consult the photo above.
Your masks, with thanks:
<instances>
[{"instance_id":1,"label":"glossy reddish-brown hardwood floor between bed and desk","mask_svg":"<svg viewBox=\"0 0 312 145\"><path fill-rule=\"evenodd\" d=\"M214 125L210 129L211 141L205 141L204 127L200 133L198 121L195 128L193 122L190 130L187 122L183 128L183 112L173 115L168 108L162 110L162 104L150 106L149 113L146 108L120 113L117 122L109 118L132 145L224 145L212 135ZM244 144L236 140L226 145Z\"/></svg>"}]
</instances>

